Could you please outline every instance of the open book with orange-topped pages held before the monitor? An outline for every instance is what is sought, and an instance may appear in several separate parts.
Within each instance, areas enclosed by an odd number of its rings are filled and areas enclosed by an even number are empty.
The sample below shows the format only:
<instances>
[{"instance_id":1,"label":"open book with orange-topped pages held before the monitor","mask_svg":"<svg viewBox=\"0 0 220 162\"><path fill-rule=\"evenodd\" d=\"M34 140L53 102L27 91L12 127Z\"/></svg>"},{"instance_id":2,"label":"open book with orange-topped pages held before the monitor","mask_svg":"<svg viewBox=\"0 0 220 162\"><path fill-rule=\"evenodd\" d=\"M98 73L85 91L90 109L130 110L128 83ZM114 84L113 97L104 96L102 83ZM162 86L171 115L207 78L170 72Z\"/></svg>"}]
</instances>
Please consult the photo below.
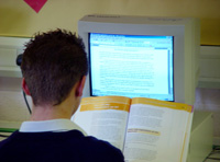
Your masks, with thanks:
<instances>
[{"instance_id":1,"label":"open book with orange-topped pages held before the monitor","mask_svg":"<svg viewBox=\"0 0 220 162\"><path fill-rule=\"evenodd\" d=\"M122 150L127 162L185 162L193 106L145 97L85 97L72 118Z\"/></svg>"}]
</instances>

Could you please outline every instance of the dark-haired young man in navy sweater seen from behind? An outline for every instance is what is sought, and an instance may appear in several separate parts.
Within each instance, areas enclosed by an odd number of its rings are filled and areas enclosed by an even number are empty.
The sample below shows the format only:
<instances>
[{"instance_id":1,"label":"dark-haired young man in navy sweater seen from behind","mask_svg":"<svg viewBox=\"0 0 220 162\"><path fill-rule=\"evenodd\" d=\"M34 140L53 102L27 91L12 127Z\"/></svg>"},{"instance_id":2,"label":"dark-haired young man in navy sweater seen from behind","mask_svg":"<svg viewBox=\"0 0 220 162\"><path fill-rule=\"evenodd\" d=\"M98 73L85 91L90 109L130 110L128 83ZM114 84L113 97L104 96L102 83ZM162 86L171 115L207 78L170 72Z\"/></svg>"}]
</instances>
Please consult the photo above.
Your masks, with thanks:
<instances>
[{"instance_id":1,"label":"dark-haired young man in navy sweater seen from behind","mask_svg":"<svg viewBox=\"0 0 220 162\"><path fill-rule=\"evenodd\" d=\"M31 120L0 142L0 161L124 161L119 149L70 121L88 70L80 38L64 30L36 34L26 44L21 69L22 88L33 102Z\"/></svg>"}]
</instances>

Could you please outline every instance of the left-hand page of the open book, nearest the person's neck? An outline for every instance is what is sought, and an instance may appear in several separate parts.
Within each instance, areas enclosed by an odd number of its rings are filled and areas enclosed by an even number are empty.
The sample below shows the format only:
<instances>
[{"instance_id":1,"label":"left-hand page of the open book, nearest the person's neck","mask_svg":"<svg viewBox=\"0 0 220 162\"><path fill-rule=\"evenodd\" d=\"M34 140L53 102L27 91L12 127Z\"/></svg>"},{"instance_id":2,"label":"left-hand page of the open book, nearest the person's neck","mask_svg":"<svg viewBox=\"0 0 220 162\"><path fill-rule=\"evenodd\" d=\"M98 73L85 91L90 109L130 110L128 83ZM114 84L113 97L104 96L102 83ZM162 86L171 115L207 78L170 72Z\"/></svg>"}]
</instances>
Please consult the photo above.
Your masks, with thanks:
<instances>
[{"instance_id":1,"label":"left-hand page of the open book, nearest the person's neck","mask_svg":"<svg viewBox=\"0 0 220 162\"><path fill-rule=\"evenodd\" d=\"M88 136L109 141L122 150L130 102L123 96L85 97L73 120Z\"/></svg>"}]
</instances>

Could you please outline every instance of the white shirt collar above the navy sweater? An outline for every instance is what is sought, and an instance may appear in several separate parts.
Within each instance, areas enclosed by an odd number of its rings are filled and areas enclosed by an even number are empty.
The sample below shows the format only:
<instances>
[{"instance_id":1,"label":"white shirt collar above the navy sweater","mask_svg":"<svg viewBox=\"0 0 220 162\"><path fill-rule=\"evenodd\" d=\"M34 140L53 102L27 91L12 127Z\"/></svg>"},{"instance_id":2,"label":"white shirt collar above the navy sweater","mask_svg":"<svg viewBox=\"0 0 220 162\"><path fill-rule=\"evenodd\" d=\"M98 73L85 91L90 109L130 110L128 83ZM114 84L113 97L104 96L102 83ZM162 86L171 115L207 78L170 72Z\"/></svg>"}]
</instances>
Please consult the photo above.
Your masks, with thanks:
<instances>
[{"instance_id":1,"label":"white shirt collar above the navy sweater","mask_svg":"<svg viewBox=\"0 0 220 162\"><path fill-rule=\"evenodd\" d=\"M61 132L68 130L79 130L85 136L87 134L78 125L76 125L70 119L52 119L52 120L41 120L41 121L24 121L19 129L20 132Z\"/></svg>"}]
</instances>

